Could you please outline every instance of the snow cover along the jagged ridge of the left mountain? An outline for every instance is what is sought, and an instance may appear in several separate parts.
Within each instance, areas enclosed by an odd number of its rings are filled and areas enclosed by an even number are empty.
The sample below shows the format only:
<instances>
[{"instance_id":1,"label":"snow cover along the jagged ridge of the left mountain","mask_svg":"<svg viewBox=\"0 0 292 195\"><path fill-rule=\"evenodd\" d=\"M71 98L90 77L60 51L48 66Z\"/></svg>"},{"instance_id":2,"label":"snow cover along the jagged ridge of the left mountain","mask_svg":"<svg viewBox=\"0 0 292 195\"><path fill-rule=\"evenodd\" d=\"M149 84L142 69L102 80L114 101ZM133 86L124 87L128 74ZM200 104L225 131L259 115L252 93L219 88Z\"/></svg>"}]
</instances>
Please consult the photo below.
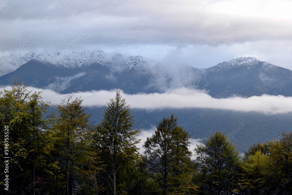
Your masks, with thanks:
<instances>
[{"instance_id":1,"label":"snow cover along the jagged ridge of the left mountain","mask_svg":"<svg viewBox=\"0 0 292 195\"><path fill-rule=\"evenodd\" d=\"M32 59L41 61L44 64L70 69L88 66L93 63L107 66L108 63L113 61L116 61L119 65L122 65L123 70L131 70L132 68L134 70L145 70L147 65L147 59L142 56L130 56L128 58L124 58L124 56L118 54L118 56L114 56L110 59L108 54L101 50L73 51L69 54L63 54L60 52L53 54L43 54L38 52L11 53L0 57L0 62L6 61L13 66L20 67Z\"/></svg>"}]
</instances>

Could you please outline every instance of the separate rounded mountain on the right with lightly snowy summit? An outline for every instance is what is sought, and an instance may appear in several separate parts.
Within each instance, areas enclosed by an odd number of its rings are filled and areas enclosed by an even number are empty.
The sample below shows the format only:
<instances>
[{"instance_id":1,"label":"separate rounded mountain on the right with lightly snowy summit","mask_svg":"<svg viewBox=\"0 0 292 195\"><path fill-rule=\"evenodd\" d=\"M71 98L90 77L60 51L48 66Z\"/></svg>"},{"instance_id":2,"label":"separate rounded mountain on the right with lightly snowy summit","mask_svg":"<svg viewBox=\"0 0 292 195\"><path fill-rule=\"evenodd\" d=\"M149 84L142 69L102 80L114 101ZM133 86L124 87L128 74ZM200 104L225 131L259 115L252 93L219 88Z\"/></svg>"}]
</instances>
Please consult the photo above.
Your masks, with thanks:
<instances>
[{"instance_id":1,"label":"separate rounded mountain on the right with lightly snowy summit","mask_svg":"<svg viewBox=\"0 0 292 195\"><path fill-rule=\"evenodd\" d=\"M292 72L254 57L234 58L206 69L197 83L212 97L262 94L292 96Z\"/></svg>"}]
</instances>

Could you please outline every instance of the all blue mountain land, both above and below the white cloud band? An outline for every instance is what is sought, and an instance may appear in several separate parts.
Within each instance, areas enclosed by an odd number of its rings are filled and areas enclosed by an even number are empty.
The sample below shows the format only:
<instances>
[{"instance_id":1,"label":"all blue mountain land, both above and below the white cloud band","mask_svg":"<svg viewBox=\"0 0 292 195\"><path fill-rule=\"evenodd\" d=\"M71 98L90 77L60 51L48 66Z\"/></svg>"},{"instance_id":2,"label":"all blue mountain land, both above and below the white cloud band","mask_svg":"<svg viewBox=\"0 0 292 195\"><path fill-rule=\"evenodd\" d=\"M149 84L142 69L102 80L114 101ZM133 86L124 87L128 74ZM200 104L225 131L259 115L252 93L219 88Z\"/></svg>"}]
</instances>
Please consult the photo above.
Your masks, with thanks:
<instances>
[{"instance_id":1,"label":"all blue mountain land, both above and below the white cloud band","mask_svg":"<svg viewBox=\"0 0 292 195\"><path fill-rule=\"evenodd\" d=\"M262 62L253 57L234 58L211 68L190 66L150 66L142 56L110 56L104 51L76 51L70 54L26 53L0 58L16 70L0 77L1 85L22 82L60 93L90 90L122 89L129 94L161 93L187 87L204 89L215 98L233 95L250 97L262 94L292 96L291 70ZM100 121L103 108L88 108L92 120ZM179 125L193 138L206 139L217 130L245 151L256 142L277 139L282 131L290 131L292 113L266 115L257 112L235 112L211 109L203 118L203 109L133 109L134 128L150 129L162 116L174 113Z\"/></svg>"}]
</instances>

